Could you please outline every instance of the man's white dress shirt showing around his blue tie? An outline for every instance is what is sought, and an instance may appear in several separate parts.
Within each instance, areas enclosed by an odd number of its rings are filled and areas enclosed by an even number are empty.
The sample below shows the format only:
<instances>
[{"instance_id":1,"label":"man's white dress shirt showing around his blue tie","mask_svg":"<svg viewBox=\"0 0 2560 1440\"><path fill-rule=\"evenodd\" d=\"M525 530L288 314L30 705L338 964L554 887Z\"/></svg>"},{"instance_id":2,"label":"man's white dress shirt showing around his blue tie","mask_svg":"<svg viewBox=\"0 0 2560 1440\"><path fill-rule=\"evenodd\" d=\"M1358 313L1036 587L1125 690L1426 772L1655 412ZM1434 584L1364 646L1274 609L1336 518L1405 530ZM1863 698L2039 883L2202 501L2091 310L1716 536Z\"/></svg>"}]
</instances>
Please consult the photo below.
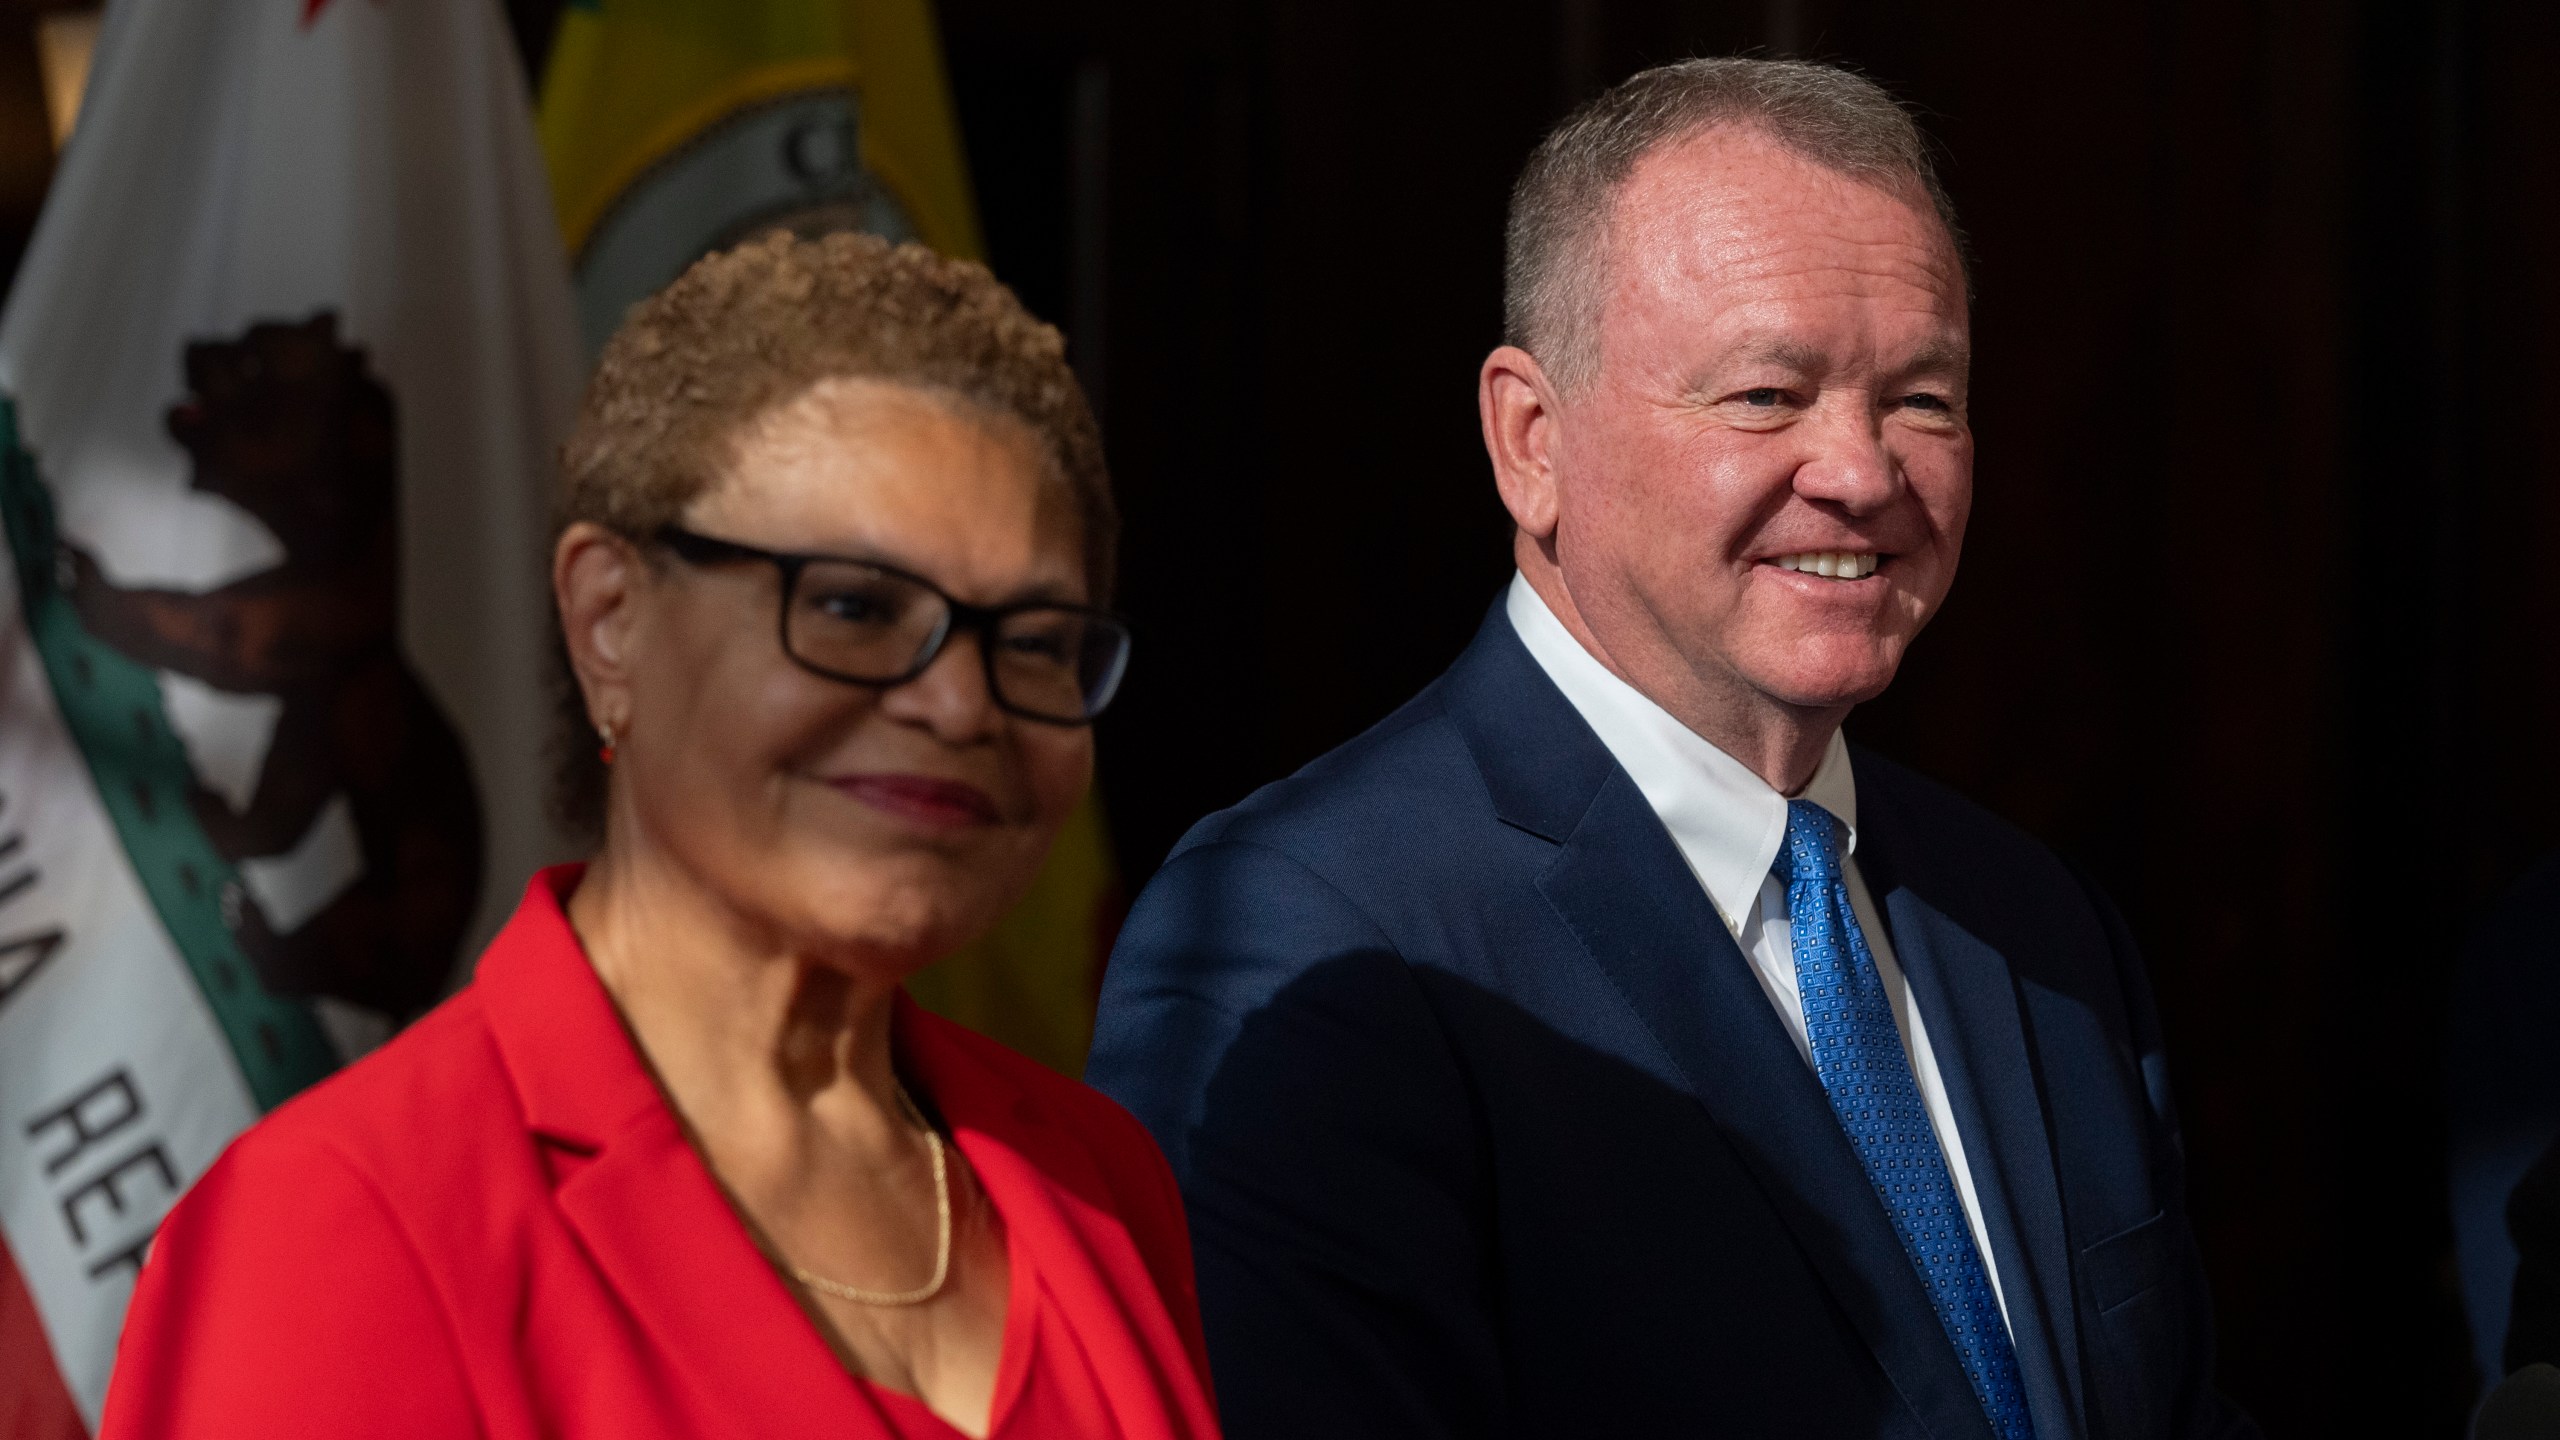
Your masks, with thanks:
<instances>
[{"instance_id":1,"label":"man's white dress shirt showing around his blue tie","mask_svg":"<svg viewBox=\"0 0 2560 1440\"><path fill-rule=\"evenodd\" d=\"M1690 861L1690 874L1705 887L1715 915L1751 958L1751 974L1769 994L1769 1004L1777 1007L1787 1035L1795 1038L1797 1053L1812 1066L1805 1002L1795 989L1795 928L1787 912L1787 887L1769 871L1787 840L1787 797L1592 659L1572 630L1546 610L1546 600L1528 587L1526 577L1510 577L1505 610L1510 628L1528 646L1528 656L1582 712L1608 753L1636 781L1644 802L1661 817L1661 828L1672 833L1672 843ZM1956 1176L1964 1217L1974 1227L1974 1248L1981 1250L1981 1268L1992 1276L1992 1297L1999 1299L1999 1314L2007 1320L2010 1302L1999 1289L1989 1232L1981 1227L1974 1168L1964 1161L1964 1138L1956 1133L1956 1112L1946 1102L1946 1081L1938 1076L1928 1025L1920 1022L1912 986L1902 979L1902 966L1894 963L1894 943L1859 876L1859 781L1848 769L1848 743L1841 740L1838 730L1830 733L1830 748L1823 751L1823 764L1812 771L1800 799L1820 805L1848 830L1848 846L1841 853L1848 904L1859 912L1859 930L1866 933L1866 948L1876 958L1884 997L1894 1010L1894 1027L1902 1030L1902 1053L1910 1056L1912 1079L1920 1081L1920 1104L1928 1107L1946 1168Z\"/></svg>"}]
</instances>

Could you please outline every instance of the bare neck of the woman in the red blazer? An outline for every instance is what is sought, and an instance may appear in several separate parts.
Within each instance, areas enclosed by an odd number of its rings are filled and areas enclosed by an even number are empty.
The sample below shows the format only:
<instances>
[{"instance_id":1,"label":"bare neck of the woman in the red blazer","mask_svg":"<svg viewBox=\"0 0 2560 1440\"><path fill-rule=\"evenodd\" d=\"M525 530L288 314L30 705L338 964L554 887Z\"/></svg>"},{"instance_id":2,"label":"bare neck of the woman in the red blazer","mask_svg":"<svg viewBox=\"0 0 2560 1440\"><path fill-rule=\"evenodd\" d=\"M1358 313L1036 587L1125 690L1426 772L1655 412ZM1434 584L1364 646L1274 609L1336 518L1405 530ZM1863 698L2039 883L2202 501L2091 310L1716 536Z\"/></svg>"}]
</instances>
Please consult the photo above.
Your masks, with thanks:
<instances>
[{"instance_id":1,"label":"bare neck of the woman in the red blazer","mask_svg":"<svg viewBox=\"0 0 2560 1440\"><path fill-rule=\"evenodd\" d=\"M612 846L568 897L568 922L676 1112L719 1158L763 1168L809 1143L893 1143L893 979L799 953L668 858Z\"/></svg>"}]
</instances>

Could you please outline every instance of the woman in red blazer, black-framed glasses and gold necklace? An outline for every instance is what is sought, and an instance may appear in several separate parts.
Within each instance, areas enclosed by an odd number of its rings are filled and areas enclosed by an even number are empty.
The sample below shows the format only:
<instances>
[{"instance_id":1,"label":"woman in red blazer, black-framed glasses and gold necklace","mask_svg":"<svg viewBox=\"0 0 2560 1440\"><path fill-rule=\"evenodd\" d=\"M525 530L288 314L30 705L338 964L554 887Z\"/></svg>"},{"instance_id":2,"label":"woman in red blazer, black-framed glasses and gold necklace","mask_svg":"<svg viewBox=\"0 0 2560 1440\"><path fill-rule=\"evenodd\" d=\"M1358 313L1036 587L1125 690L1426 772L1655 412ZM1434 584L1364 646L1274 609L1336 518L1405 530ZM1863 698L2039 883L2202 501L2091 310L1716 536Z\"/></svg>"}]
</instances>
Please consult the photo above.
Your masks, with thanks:
<instances>
[{"instance_id":1,"label":"woman in red blazer, black-framed glasses and gold necklace","mask_svg":"<svg viewBox=\"0 0 2560 1440\"><path fill-rule=\"evenodd\" d=\"M561 510L596 858L172 1212L102 1437L1213 1437L1147 1133L901 992L1126 661L1057 333L916 246L712 256Z\"/></svg>"}]
</instances>

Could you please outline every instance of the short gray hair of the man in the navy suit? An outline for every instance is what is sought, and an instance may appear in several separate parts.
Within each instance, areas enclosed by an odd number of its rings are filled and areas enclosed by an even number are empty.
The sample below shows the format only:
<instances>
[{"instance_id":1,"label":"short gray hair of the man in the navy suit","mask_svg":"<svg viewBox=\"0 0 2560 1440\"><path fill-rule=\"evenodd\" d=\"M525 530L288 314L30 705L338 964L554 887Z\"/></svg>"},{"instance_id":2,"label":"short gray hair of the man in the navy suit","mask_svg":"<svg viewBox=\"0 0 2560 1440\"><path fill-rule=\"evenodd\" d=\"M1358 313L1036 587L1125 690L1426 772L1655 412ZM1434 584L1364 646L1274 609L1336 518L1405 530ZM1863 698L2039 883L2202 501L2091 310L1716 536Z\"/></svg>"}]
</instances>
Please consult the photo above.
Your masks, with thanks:
<instances>
[{"instance_id":1,"label":"short gray hair of the man in the navy suit","mask_svg":"<svg viewBox=\"0 0 2560 1440\"><path fill-rule=\"evenodd\" d=\"M1964 256L1956 205L1910 113L1864 74L1800 59L1684 59L1641 69L1564 118L1510 187L1503 338L1564 389L1600 369L1600 295L1618 187L1654 149L1718 126L1761 131L1853 179L1928 195Z\"/></svg>"}]
</instances>

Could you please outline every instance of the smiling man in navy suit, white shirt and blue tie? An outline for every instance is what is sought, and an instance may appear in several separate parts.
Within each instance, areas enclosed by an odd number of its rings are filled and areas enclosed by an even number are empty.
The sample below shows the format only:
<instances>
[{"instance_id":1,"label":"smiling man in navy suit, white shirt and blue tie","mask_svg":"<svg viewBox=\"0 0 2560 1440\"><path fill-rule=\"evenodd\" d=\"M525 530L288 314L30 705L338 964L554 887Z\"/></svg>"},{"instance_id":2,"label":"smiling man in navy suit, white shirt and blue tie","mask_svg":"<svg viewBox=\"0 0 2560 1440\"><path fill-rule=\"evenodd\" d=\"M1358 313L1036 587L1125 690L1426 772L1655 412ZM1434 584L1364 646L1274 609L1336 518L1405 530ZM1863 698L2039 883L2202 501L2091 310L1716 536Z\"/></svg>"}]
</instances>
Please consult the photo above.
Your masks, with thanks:
<instances>
[{"instance_id":1,"label":"smiling man in navy suit, white shirt and blue tie","mask_svg":"<svg viewBox=\"0 0 2560 1440\"><path fill-rule=\"evenodd\" d=\"M2250 1435L2122 922L1841 740L1971 505L1920 136L1644 72L1528 161L1505 307L1508 594L1203 820L1103 986L1229 1432Z\"/></svg>"}]
</instances>

